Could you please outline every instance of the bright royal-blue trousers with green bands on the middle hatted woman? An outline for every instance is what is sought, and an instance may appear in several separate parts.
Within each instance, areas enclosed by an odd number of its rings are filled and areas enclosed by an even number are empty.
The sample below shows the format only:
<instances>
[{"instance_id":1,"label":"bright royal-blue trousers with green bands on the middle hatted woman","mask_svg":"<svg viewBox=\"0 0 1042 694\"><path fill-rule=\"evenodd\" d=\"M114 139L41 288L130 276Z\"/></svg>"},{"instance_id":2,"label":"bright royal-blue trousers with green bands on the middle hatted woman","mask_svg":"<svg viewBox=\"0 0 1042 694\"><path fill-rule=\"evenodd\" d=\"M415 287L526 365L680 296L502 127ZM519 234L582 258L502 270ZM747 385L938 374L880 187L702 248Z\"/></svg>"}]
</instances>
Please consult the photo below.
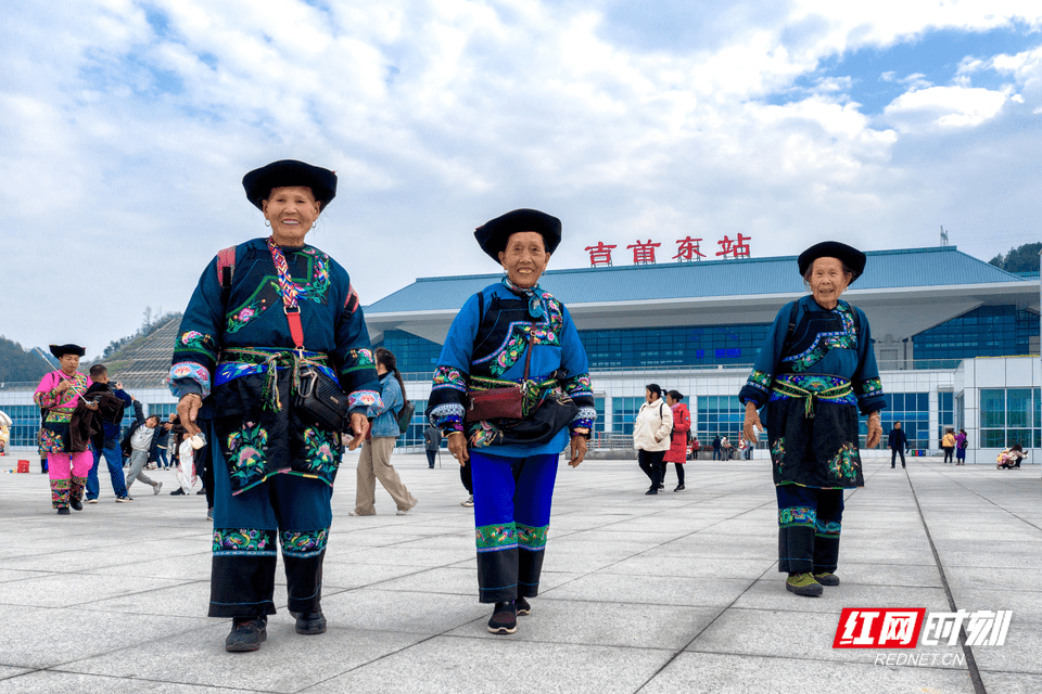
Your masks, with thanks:
<instances>
[{"instance_id":1,"label":"bright royal-blue trousers with green bands on the middle hatted woman","mask_svg":"<svg viewBox=\"0 0 1042 694\"><path fill-rule=\"evenodd\" d=\"M470 451L480 602L539 594L558 458Z\"/></svg>"}]
</instances>

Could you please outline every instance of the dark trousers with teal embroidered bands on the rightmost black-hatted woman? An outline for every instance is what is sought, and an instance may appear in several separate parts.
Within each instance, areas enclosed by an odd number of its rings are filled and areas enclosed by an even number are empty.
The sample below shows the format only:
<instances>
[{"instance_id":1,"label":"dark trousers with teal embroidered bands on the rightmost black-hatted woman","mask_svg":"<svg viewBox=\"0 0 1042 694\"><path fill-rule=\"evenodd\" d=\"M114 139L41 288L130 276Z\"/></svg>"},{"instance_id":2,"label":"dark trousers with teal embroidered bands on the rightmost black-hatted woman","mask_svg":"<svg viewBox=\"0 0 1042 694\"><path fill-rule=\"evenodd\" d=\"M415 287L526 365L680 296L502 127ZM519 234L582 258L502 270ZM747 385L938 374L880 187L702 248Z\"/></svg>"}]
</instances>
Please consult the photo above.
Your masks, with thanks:
<instances>
[{"instance_id":1,"label":"dark trousers with teal embroidered bands on the rightmost black-hatted woman","mask_svg":"<svg viewBox=\"0 0 1042 694\"><path fill-rule=\"evenodd\" d=\"M778 570L835 571L843 519L843 489L777 485Z\"/></svg>"}]
</instances>

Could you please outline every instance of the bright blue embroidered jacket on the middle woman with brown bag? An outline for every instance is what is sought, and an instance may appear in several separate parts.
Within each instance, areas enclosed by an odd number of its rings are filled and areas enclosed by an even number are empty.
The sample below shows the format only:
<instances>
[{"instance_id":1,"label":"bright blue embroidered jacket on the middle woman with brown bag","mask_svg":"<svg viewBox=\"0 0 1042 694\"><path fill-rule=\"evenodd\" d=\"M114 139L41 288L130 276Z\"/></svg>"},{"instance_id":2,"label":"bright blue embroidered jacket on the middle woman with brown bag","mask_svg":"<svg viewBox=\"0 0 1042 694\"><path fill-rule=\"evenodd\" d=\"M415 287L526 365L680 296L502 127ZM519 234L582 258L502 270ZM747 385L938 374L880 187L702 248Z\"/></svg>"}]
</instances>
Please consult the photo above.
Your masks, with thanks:
<instances>
[{"instance_id":1,"label":"bright blue embroidered jacket on the middle woman with brown bag","mask_svg":"<svg viewBox=\"0 0 1042 694\"><path fill-rule=\"evenodd\" d=\"M487 452L509 458L559 453L568 442L569 433L588 435L597 416L586 350L563 304L538 286L530 295L508 286L507 282L486 286L467 299L457 313L437 360L428 415L445 435L462 432L466 395L471 380L521 383L531 332L533 347L529 380L536 383L556 381L550 388L560 388L568 395L579 406L579 413L549 444L493 444L487 447ZM544 388L538 397L547 394ZM494 427L487 422L481 425ZM473 437L470 438L473 446Z\"/></svg>"}]
</instances>

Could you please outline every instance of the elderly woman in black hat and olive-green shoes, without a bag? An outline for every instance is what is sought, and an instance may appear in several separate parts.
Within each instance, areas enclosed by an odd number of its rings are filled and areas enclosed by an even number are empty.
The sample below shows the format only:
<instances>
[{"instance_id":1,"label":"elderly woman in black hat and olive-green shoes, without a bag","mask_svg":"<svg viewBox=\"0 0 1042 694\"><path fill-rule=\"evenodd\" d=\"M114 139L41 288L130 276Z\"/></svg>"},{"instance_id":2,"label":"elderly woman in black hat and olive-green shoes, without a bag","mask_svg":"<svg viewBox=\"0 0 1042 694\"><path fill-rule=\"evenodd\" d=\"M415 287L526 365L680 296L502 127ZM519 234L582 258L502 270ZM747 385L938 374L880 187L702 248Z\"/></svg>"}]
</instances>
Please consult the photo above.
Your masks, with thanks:
<instances>
[{"instance_id":1,"label":"elderly woman in black hat and olive-green shoes, without a bag","mask_svg":"<svg viewBox=\"0 0 1042 694\"><path fill-rule=\"evenodd\" d=\"M838 586L843 490L865 484L857 411L867 415L868 448L882 436L886 407L868 320L840 300L865 269L865 254L828 241L804 250L800 274L810 296L778 311L752 374L738 395L746 404L745 436L763 429L778 498L778 570L786 589L821 595Z\"/></svg>"}]
</instances>

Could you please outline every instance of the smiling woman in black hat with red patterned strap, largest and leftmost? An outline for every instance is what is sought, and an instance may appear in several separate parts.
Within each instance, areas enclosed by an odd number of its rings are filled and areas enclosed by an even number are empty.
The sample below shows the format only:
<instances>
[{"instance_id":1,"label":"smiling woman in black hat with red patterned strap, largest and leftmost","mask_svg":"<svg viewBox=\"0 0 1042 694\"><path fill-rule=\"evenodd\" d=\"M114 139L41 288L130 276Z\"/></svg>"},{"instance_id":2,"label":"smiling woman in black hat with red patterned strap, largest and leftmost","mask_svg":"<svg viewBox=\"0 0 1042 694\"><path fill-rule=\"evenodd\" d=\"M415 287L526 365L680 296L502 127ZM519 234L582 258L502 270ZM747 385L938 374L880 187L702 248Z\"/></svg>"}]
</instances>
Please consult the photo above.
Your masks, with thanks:
<instances>
[{"instance_id":1,"label":"smiling woman in black hat with red patterned strap, largest and leftmost","mask_svg":"<svg viewBox=\"0 0 1042 694\"><path fill-rule=\"evenodd\" d=\"M170 370L187 434L202 425L211 444L209 616L232 618L228 651L255 651L267 637L278 544L297 633L326 631L322 561L343 447L339 432L294 406L302 370L338 378L347 394L348 448L361 441L369 407L380 401L347 271L304 242L336 194L336 175L282 160L250 171L242 184L271 235L211 261L185 311Z\"/></svg>"}]
</instances>

